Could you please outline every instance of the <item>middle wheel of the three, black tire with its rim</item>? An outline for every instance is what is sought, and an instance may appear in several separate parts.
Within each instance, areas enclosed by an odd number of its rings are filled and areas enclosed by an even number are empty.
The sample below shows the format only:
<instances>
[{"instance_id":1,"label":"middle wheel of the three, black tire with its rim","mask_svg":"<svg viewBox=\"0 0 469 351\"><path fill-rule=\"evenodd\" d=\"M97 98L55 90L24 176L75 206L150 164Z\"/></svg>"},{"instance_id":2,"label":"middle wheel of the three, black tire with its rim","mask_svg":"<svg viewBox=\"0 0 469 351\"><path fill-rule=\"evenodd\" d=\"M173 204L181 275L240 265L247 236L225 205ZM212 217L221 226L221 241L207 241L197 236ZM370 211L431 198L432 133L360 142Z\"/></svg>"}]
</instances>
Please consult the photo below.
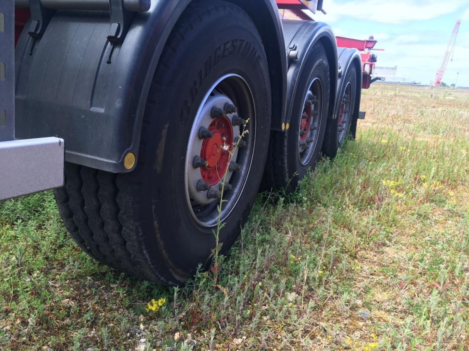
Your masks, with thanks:
<instances>
[{"instance_id":1,"label":"middle wheel of the three, black tire with its rim","mask_svg":"<svg viewBox=\"0 0 469 351\"><path fill-rule=\"evenodd\" d=\"M286 132L272 132L264 187L296 189L318 163L329 106L329 63L324 46L315 44L300 73Z\"/></svg>"}]
</instances>

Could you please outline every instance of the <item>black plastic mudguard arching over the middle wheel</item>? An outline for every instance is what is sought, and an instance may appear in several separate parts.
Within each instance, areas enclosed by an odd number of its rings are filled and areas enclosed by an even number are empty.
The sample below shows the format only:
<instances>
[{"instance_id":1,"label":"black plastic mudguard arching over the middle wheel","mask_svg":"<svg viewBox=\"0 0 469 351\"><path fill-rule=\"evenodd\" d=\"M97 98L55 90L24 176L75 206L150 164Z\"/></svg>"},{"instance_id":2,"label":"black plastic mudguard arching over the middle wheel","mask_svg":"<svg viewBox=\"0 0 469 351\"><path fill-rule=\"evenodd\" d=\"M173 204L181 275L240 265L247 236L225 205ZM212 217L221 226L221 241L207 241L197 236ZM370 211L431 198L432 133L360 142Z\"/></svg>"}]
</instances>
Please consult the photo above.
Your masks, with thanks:
<instances>
[{"instance_id":1,"label":"black plastic mudguard arching over the middle wheel","mask_svg":"<svg viewBox=\"0 0 469 351\"><path fill-rule=\"evenodd\" d=\"M292 111L293 96L297 89L298 78L302 74L303 66L314 45L321 42L329 60L329 74L331 77L331 93L329 111L334 111L337 91L337 44L331 27L322 22L283 20L285 44L287 52L298 51L298 59L290 59L287 73L287 115L285 124L288 125Z\"/></svg>"}]
</instances>

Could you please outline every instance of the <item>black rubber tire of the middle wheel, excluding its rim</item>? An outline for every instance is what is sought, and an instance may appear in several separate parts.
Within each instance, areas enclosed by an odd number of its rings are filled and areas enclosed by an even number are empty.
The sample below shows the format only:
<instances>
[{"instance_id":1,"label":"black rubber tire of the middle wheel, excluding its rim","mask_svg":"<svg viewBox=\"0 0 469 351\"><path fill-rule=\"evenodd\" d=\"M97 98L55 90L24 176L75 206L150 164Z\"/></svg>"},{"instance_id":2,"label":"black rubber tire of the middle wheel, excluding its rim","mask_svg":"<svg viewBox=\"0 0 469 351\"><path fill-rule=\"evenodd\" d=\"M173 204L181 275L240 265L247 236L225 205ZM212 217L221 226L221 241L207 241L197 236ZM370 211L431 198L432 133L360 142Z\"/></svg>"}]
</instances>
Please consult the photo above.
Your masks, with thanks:
<instances>
[{"instance_id":1,"label":"black rubber tire of the middle wheel, excluding its rim","mask_svg":"<svg viewBox=\"0 0 469 351\"><path fill-rule=\"evenodd\" d=\"M321 108L318 115L317 140L312 146L311 157L304 164L300 161L298 142L304 102L310 91L311 82L319 80L322 85ZM308 169L314 169L318 163L324 139L330 96L329 62L325 48L315 44L310 57L300 73L298 88L293 97L292 115L287 132L273 131L269 154L265 165L264 188L282 189L287 193L294 191L298 182L306 176Z\"/></svg>"}]
</instances>

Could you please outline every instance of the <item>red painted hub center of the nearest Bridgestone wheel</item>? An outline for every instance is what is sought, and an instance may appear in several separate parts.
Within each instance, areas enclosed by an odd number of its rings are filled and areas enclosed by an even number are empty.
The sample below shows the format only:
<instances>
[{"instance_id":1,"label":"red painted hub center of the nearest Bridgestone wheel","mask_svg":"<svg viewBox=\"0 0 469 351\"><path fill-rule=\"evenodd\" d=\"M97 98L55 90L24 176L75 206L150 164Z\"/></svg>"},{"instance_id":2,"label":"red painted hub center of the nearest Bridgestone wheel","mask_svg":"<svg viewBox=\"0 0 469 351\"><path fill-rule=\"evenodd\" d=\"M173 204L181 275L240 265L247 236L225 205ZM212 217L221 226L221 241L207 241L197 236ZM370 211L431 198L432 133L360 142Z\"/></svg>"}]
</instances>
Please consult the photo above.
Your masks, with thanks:
<instances>
[{"instance_id":1,"label":"red painted hub center of the nearest Bridgestone wheel","mask_svg":"<svg viewBox=\"0 0 469 351\"><path fill-rule=\"evenodd\" d=\"M213 137L205 139L200 150L200 157L208 162L208 166L200 168L200 175L213 186L223 179L227 171L233 148L233 128L231 121L224 116L215 118L208 129L213 132Z\"/></svg>"}]
</instances>

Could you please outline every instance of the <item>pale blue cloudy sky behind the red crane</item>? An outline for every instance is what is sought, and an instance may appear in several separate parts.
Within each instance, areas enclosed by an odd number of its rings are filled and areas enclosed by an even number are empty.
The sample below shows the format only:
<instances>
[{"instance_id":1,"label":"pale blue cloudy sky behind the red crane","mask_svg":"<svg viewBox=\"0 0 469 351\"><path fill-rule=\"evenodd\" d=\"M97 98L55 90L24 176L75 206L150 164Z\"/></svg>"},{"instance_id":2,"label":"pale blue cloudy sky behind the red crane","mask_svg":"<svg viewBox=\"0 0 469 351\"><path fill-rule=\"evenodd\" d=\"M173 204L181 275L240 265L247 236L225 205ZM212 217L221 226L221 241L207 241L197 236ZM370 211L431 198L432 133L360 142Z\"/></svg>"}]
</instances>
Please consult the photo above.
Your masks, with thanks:
<instances>
[{"instance_id":1,"label":"pale blue cloudy sky behind the red crane","mask_svg":"<svg viewBox=\"0 0 469 351\"><path fill-rule=\"evenodd\" d=\"M469 87L469 0L324 0L326 22L336 36L378 44L377 66L397 66L397 76L429 84L441 64L457 20L461 20L453 61L443 80Z\"/></svg>"}]
</instances>

